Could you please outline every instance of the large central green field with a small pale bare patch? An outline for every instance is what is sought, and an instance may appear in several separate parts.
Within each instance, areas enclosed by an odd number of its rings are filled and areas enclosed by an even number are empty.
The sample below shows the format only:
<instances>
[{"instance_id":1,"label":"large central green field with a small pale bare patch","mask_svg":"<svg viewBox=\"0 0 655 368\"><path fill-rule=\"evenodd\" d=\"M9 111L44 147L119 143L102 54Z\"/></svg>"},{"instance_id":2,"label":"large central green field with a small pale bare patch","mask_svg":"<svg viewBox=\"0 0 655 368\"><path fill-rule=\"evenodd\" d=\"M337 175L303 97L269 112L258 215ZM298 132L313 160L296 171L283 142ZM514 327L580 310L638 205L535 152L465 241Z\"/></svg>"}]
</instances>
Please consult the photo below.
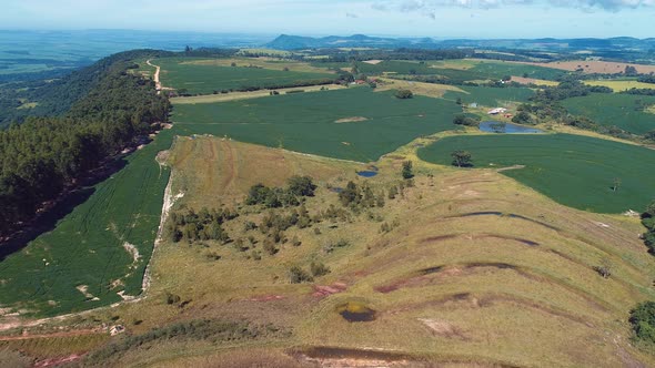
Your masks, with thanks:
<instances>
[{"instance_id":1,"label":"large central green field with a small pale bare patch","mask_svg":"<svg viewBox=\"0 0 655 368\"><path fill-rule=\"evenodd\" d=\"M179 104L173 120L183 135L228 135L241 142L370 162L420 135L454 129L453 116L458 112L456 104L445 100L399 100L393 92L354 88ZM351 117L365 121L336 122Z\"/></svg>"}]
</instances>

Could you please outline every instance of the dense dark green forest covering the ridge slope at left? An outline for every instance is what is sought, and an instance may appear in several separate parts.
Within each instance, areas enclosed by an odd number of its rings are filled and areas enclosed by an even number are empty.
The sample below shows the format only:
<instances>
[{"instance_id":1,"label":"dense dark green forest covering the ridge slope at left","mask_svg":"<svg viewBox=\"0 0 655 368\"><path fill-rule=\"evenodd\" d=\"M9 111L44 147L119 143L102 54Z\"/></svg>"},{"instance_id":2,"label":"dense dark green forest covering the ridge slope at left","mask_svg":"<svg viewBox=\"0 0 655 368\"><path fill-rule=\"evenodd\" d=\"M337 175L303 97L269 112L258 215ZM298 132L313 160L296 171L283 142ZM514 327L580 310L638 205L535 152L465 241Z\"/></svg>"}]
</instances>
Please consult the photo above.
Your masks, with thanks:
<instances>
[{"instance_id":1,"label":"dense dark green forest covering the ridge slope at left","mask_svg":"<svg viewBox=\"0 0 655 368\"><path fill-rule=\"evenodd\" d=\"M0 131L0 237L165 122L168 100L152 81L129 72L137 68L132 60L158 54L119 53L31 92L40 101L37 116Z\"/></svg>"}]
</instances>

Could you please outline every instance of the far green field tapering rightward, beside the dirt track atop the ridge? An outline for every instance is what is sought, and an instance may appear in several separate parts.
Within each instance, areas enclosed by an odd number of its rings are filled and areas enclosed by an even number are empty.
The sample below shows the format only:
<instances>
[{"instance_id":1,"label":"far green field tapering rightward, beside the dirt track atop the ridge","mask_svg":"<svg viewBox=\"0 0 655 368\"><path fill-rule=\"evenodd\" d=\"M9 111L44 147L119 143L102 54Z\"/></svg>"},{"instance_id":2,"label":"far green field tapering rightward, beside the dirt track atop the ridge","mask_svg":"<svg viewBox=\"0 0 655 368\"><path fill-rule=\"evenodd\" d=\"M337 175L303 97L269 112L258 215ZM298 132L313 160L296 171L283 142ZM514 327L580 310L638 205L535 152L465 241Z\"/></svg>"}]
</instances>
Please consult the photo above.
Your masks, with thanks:
<instances>
[{"instance_id":1,"label":"far green field tapering rightward, beside the dirt track atop the ridge","mask_svg":"<svg viewBox=\"0 0 655 368\"><path fill-rule=\"evenodd\" d=\"M296 83L335 79L333 73L280 71L246 67L219 67L192 63L194 59L164 58L160 65L161 82L167 88L185 89L191 94L209 94L222 90L292 86Z\"/></svg>"}]
</instances>

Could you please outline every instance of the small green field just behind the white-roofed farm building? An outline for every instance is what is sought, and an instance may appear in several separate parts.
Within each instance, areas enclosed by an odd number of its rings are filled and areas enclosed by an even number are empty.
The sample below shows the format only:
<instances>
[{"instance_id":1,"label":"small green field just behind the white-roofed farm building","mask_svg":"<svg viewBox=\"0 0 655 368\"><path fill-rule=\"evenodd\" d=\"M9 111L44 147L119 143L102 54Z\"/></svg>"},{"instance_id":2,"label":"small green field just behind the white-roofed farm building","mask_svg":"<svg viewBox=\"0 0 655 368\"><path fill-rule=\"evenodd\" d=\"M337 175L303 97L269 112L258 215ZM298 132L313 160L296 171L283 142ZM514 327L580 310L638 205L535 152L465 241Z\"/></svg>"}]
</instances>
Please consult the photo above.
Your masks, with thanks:
<instances>
[{"instance_id":1,"label":"small green field just behind the white-roofed farm building","mask_svg":"<svg viewBox=\"0 0 655 368\"><path fill-rule=\"evenodd\" d=\"M477 103L484 106L498 106L506 102L526 102L534 91L526 88L461 86L468 94L447 91L444 99L461 98L464 104Z\"/></svg>"}]
</instances>

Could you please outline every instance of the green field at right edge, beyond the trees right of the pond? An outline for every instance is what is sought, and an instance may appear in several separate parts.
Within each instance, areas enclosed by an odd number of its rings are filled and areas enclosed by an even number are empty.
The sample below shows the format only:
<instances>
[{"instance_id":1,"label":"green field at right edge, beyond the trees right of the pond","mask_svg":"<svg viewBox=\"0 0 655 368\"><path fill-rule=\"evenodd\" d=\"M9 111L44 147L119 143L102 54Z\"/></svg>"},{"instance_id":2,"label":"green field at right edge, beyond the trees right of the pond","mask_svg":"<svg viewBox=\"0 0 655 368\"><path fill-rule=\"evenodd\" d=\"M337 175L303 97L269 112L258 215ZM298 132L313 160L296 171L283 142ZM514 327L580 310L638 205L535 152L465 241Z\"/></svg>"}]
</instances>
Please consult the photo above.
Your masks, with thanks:
<instances>
[{"instance_id":1,"label":"green field at right edge, beyond the trees right of the pond","mask_svg":"<svg viewBox=\"0 0 655 368\"><path fill-rule=\"evenodd\" d=\"M562 101L572 114L586 116L603 125L616 125L635 134L655 130L655 116L644 111L655 96L599 93Z\"/></svg>"}]
</instances>

